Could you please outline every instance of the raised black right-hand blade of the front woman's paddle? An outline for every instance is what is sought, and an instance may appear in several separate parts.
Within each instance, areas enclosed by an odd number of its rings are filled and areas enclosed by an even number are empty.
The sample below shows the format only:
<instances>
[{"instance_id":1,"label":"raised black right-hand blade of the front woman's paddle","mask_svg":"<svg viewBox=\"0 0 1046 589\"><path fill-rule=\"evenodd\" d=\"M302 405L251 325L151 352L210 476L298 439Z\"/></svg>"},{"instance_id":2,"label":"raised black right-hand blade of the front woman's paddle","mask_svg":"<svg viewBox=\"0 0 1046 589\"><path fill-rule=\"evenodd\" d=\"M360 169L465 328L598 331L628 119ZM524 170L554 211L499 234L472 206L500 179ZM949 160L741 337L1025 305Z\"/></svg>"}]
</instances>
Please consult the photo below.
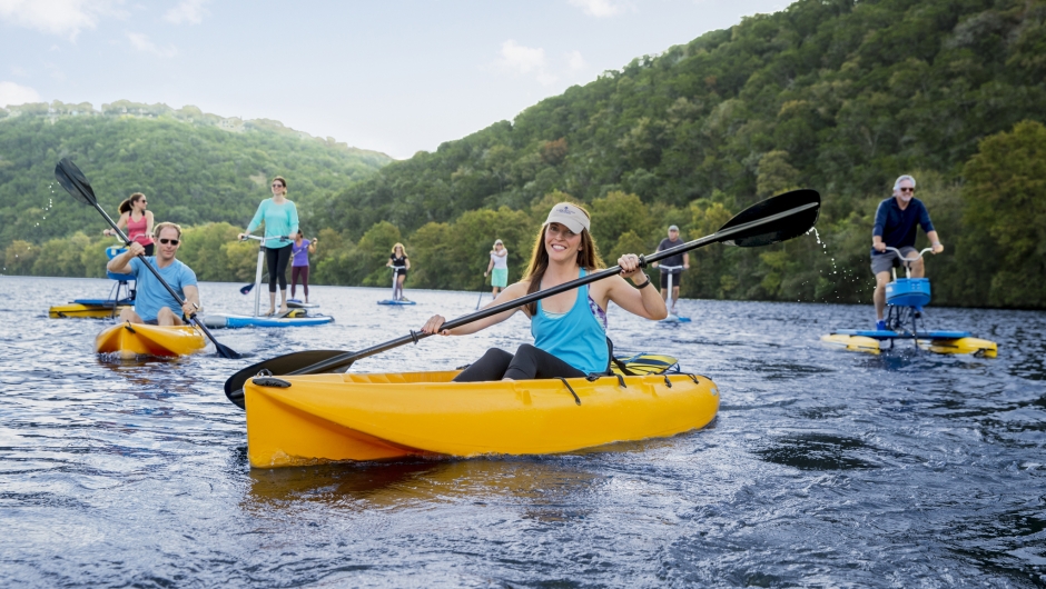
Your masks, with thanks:
<instances>
[{"instance_id":1,"label":"raised black right-hand blade of the front woman's paddle","mask_svg":"<svg viewBox=\"0 0 1046 589\"><path fill-rule=\"evenodd\" d=\"M791 192L768 198L739 212L733 219L727 221L727 224L719 228L720 231L723 231L724 229L760 221L805 206L808 208L768 223L760 223L757 227L742 231L740 234L731 236L730 239L723 241L723 243L742 248L754 248L788 241L793 237L799 237L809 231L810 228L813 227L813 223L817 222L817 216L821 208L821 196L818 194L817 190L810 190L808 188L792 190Z\"/></svg>"}]
</instances>

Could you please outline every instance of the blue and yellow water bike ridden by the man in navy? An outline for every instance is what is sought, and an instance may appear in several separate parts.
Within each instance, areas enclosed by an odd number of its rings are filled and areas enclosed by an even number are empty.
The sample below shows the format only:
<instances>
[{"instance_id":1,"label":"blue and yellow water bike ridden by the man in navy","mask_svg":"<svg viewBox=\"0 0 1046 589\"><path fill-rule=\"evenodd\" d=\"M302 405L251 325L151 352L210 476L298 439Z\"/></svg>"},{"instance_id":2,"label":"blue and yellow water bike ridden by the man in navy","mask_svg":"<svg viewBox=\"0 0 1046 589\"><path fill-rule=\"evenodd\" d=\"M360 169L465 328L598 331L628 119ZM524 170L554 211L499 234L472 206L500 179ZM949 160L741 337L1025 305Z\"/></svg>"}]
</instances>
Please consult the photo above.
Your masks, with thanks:
<instances>
[{"instance_id":1,"label":"blue and yellow water bike ridden by the man in navy","mask_svg":"<svg viewBox=\"0 0 1046 589\"><path fill-rule=\"evenodd\" d=\"M905 258L897 248L886 249L905 263L905 278L897 278L895 268L894 281L886 286L887 329L840 329L821 336L821 341L848 350L879 353L894 349L897 340L907 339L915 342L916 349L936 353L996 357L998 346L994 341L975 338L969 331L926 329L922 308L930 302L930 281L928 278L911 278L911 264L932 248L924 249L914 258Z\"/></svg>"}]
</instances>

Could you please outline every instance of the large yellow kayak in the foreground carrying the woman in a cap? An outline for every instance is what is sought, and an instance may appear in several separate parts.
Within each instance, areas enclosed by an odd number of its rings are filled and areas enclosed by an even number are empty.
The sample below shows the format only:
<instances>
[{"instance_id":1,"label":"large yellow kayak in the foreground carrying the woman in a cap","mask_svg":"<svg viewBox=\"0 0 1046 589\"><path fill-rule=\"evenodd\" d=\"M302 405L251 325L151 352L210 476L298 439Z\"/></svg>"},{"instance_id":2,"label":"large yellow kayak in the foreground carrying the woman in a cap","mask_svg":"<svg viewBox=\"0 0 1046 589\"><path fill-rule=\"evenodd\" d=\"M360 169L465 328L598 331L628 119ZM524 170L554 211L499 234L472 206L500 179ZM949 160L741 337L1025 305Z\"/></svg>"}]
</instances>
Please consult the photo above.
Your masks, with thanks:
<instances>
[{"instance_id":1,"label":"large yellow kayak in the foreground carrying the woman in a cap","mask_svg":"<svg viewBox=\"0 0 1046 589\"><path fill-rule=\"evenodd\" d=\"M408 456L544 455L708 425L704 377L451 382L457 371L256 377L245 388L250 466Z\"/></svg>"}]
</instances>

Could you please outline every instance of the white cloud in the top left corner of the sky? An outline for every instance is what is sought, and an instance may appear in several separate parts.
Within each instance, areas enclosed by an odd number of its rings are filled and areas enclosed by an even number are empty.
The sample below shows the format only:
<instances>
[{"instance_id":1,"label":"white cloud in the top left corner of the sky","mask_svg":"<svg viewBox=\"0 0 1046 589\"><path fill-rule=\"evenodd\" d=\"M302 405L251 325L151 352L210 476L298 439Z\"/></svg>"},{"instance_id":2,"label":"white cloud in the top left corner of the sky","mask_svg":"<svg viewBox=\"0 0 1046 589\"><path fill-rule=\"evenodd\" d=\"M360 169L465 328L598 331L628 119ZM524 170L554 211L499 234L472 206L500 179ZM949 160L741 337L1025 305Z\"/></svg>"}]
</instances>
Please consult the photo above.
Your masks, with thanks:
<instances>
[{"instance_id":1,"label":"white cloud in the top left corner of the sky","mask_svg":"<svg viewBox=\"0 0 1046 589\"><path fill-rule=\"evenodd\" d=\"M112 14L112 6L114 0L0 0L0 20L76 41L99 17Z\"/></svg>"}]
</instances>

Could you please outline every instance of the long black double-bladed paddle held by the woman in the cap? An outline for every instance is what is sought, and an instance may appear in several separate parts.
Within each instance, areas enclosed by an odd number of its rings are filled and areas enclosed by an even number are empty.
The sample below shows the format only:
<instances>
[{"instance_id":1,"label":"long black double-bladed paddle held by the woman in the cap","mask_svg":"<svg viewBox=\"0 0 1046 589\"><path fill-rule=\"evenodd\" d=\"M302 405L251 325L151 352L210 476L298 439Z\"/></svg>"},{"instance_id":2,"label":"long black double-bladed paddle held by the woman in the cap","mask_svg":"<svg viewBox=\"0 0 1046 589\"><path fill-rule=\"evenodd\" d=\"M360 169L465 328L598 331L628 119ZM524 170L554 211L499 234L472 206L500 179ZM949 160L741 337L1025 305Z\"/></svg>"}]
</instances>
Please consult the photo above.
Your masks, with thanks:
<instances>
[{"instance_id":1,"label":"long black double-bladed paddle held by the woman in the cap","mask_svg":"<svg viewBox=\"0 0 1046 589\"><path fill-rule=\"evenodd\" d=\"M816 190L793 190L778 194L744 209L727 221L724 226L719 228L719 231L716 231L711 236L688 241L687 243L650 256L641 256L640 263L645 267L649 262L655 262L675 256L677 253L702 248L709 243L721 242L729 246L753 248L787 241L806 233L813 227L813 223L817 222L820 207L821 197ZM519 299L513 299L501 305L487 307L482 311L460 317L443 323L443 328L454 329L510 309L515 309L516 307L530 305L545 297L552 297L553 294L559 294L560 292L595 282L596 280L616 276L619 272L621 272L621 267L614 266L613 268L608 268L576 280L564 282L547 290L540 290L525 297L520 297ZM409 336L386 341L385 343L379 343L358 352L314 350L279 356L249 366L233 375L225 381L225 395L233 403L243 409L244 385L250 378L258 376L263 370L268 375L318 375L322 372L333 372L343 368L347 369L353 362L362 358L367 358L368 356L374 356L406 343L417 343L417 340L427 337L428 333L411 331ZM320 356L324 358L317 360Z\"/></svg>"}]
</instances>

